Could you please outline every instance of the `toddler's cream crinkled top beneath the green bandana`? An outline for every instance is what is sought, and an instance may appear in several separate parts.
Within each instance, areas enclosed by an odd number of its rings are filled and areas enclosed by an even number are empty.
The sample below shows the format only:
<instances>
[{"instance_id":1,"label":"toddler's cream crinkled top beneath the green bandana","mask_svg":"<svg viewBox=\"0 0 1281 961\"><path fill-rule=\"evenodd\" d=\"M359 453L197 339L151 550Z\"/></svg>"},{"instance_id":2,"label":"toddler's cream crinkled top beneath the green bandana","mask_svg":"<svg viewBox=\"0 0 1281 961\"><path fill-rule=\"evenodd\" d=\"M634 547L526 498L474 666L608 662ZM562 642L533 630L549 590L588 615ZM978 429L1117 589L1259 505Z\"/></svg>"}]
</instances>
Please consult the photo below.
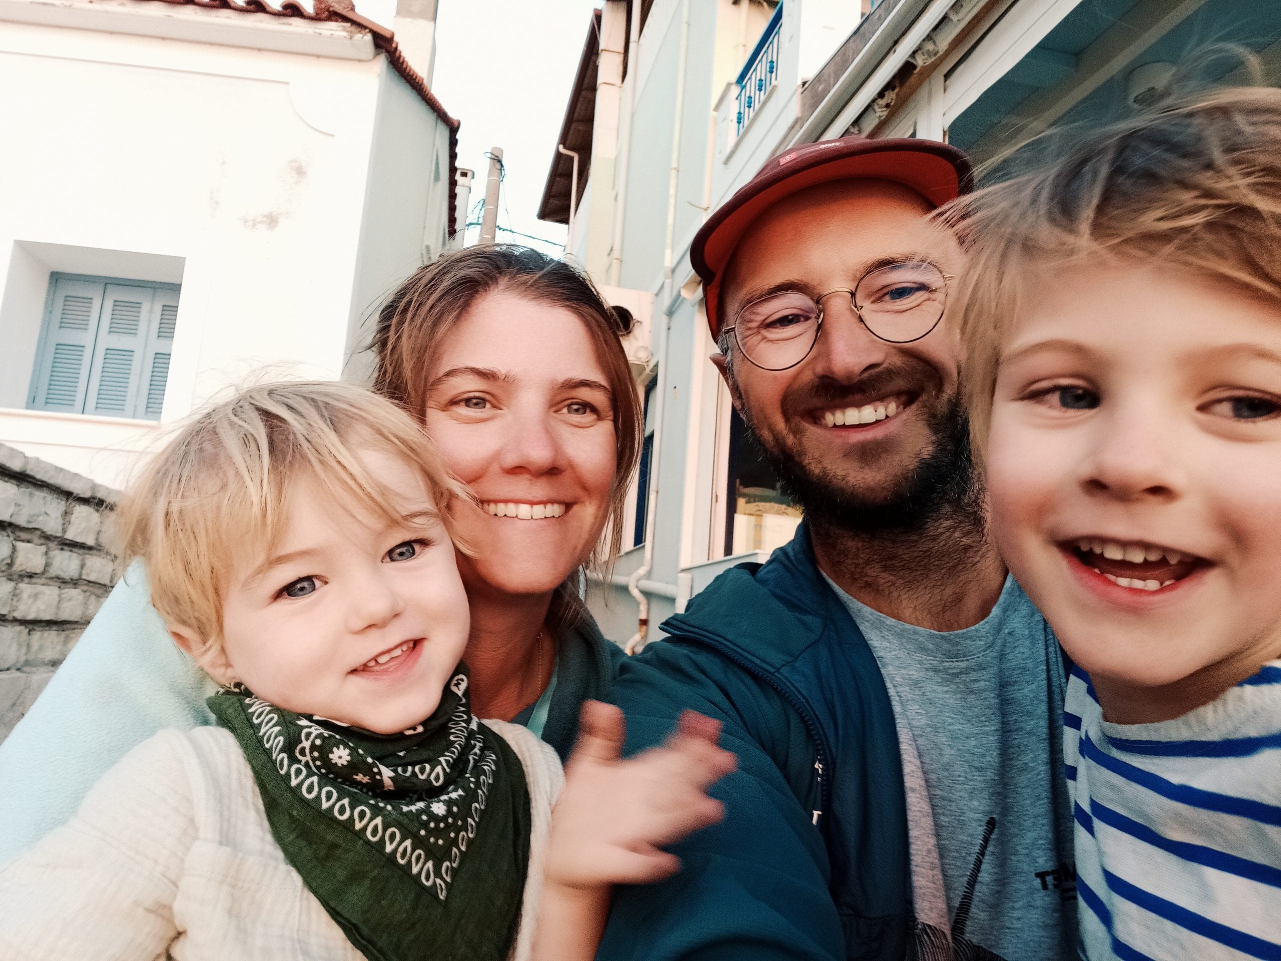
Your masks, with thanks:
<instances>
[{"instance_id":1,"label":"toddler's cream crinkled top beneath the green bandana","mask_svg":"<svg viewBox=\"0 0 1281 961\"><path fill-rule=\"evenodd\" d=\"M520 757L533 835L512 961L529 957L556 753L485 721ZM4 961L361 961L272 838L254 774L222 728L161 730L76 816L0 869Z\"/></svg>"}]
</instances>

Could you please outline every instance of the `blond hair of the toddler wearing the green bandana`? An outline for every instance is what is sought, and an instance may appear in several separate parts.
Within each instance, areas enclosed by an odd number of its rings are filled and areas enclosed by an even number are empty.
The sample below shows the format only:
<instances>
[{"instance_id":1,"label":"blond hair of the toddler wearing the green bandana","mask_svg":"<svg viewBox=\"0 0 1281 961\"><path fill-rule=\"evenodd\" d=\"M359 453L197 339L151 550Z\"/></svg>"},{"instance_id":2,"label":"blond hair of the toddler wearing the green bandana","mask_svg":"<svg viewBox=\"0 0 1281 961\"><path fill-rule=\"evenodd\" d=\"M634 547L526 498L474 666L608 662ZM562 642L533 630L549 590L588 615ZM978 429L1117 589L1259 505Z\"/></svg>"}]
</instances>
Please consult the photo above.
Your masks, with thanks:
<instances>
[{"instance_id":1,"label":"blond hair of the toddler wearing the green bandana","mask_svg":"<svg viewBox=\"0 0 1281 961\"><path fill-rule=\"evenodd\" d=\"M402 520L365 452L415 468L453 537L452 498L469 495L409 414L352 384L249 387L197 414L147 464L120 505L123 554L146 563L160 616L204 641L197 661L220 647L231 569L270 551L297 481L315 481L345 510Z\"/></svg>"}]
</instances>

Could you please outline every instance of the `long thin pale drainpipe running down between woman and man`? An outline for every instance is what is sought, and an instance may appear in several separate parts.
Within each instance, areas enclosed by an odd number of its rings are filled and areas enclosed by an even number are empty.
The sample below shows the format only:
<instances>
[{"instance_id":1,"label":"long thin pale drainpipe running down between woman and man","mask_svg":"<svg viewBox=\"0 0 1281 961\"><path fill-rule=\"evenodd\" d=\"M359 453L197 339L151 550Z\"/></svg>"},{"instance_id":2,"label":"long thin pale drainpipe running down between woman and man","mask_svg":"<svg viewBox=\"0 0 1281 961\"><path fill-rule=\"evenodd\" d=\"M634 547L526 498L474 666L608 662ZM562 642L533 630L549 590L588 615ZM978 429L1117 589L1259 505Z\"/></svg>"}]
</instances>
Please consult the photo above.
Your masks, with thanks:
<instances>
[{"instance_id":1,"label":"long thin pale drainpipe running down between woman and man","mask_svg":"<svg viewBox=\"0 0 1281 961\"><path fill-rule=\"evenodd\" d=\"M628 578L628 591L637 600L639 607L637 616L637 633L632 636L624 650L628 653L635 651L637 646L644 642L649 632L649 598L640 591L640 582L649 575L653 566L653 524L658 514L658 465L662 459L662 413L667 400L667 342L671 340L671 314L667 305L671 302L671 268L673 246L676 234L676 186L680 174L680 122L685 106L685 60L689 50L689 0L683 0L680 5L680 67L676 72L676 109L671 123L671 168L667 172L667 237L662 252L662 336L658 338L658 388L655 391L653 409L653 454L649 456L649 491L646 504L644 520L644 560Z\"/></svg>"}]
</instances>

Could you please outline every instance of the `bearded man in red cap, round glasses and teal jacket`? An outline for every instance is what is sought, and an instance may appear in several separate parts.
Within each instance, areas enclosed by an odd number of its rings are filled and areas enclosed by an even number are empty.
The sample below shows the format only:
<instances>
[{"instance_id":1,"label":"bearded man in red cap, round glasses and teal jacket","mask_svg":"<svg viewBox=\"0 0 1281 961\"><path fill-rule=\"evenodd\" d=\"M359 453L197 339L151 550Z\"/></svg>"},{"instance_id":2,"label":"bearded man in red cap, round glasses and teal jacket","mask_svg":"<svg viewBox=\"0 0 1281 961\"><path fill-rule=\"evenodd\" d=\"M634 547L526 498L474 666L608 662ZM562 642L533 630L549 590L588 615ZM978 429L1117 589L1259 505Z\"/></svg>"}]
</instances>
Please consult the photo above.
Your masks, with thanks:
<instances>
[{"instance_id":1,"label":"bearded man in red cap, round glasses and teal jacket","mask_svg":"<svg viewBox=\"0 0 1281 961\"><path fill-rule=\"evenodd\" d=\"M690 259L734 406L804 510L624 665L628 750L724 724L725 820L620 889L598 957L1076 956L1065 665L1007 575L959 400L930 214L965 156L845 137L775 158Z\"/></svg>"}]
</instances>

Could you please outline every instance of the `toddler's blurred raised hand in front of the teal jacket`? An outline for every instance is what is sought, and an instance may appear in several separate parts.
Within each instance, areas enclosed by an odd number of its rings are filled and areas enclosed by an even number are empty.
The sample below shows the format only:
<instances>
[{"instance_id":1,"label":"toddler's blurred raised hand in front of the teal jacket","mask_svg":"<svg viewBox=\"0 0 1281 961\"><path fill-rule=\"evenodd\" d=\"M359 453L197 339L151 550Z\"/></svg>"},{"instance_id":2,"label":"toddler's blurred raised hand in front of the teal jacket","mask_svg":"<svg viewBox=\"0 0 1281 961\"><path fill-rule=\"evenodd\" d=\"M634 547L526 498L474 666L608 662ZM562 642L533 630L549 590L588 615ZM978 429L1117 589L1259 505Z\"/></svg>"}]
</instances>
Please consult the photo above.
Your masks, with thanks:
<instances>
[{"instance_id":1,"label":"toddler's blurred raised hand in front of the teal jacket","mask_svg":"<svg viewBox=\"0 0 1281 961\"><path fill-rule=\"evenodd\" d=\"M661 747L623 760L623 711L585 702L552 812L548 880L585 888L675 874L680 861L660 847L724 816L721 802L706 793L738 766L716 743L720 727L685 711Z\"/></svg>"}]
</instances>

